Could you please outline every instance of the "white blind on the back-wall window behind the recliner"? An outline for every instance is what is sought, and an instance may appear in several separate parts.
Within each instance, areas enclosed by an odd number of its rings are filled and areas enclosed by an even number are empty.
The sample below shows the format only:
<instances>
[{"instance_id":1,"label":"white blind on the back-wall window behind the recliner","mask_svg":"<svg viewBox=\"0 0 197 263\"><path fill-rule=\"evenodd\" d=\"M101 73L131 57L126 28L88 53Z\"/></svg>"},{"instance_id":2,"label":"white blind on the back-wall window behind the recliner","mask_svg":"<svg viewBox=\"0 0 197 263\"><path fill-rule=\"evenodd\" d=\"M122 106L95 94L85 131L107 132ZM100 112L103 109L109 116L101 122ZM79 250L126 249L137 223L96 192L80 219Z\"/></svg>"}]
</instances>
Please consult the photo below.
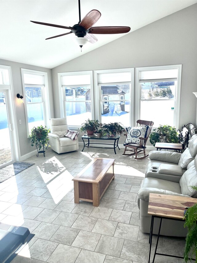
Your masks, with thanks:
<instances>
[{"instance_id":1,"label":"white blind on the back-wall window behind the recliner","mask_svg":"<svg viewBox=\"0 0 197 263\"><path fill-rule=\"evenodd\" d=\"M62 86L70 85L90 85L90 74L83 75L63 75Z\"/></svg>"}]
</instances>

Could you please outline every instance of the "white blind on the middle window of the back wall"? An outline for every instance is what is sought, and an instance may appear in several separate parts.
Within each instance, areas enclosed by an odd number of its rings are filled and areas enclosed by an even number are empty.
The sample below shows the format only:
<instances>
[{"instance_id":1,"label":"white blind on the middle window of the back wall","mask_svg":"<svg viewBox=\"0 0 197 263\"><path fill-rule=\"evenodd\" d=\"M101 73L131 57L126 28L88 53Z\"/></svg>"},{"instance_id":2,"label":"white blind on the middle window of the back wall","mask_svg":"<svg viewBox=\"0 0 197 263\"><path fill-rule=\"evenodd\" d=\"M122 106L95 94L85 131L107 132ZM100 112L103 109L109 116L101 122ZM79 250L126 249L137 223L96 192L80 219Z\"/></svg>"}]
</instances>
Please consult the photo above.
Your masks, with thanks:
<instances>
[{"instance_id":1,"label":"white blind on the middle window of the back wall","mask_svg":"<svg viewBox=\"0 0 197 263\"><path fill-rule=\"evenodd\" d=\"M131 82L131 72L98 73L98 85Z\"/></svg>"}]
</instances>

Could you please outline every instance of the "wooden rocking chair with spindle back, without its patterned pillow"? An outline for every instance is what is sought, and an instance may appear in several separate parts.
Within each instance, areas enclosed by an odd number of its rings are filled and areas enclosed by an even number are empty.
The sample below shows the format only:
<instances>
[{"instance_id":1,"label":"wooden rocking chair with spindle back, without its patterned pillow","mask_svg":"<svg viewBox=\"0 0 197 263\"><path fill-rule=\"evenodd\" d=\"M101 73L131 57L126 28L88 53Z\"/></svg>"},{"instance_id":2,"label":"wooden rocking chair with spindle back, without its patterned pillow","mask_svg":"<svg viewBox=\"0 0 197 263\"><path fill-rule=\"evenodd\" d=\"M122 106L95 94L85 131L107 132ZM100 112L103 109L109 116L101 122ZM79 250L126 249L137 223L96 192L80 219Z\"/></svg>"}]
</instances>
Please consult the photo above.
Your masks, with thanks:
<instances>
[{"instance_id":1,"label":"wooden rocking chair with spindle back, without its patterned pillow","mask_svg":"<svg viewBox=\"0 0 197 263\"><path fill-rule=\"evenodd\" d=\"M124 144L125 149L124 149L123 155L134 155L135 154L135 159L144 159L148 156L148 154L146 155L146 152L145 152L146 142L147 142L148 137L151 133L151 129L152 129L153 124L154 124L153 121L143 121L143 120L137 121L137 127L138 126L144 126L144 125L149 126L149 128L147 129L147 132L146 132L146 138L139 137L139 139L140 139L139 144L136 144L136 143ZM124 135L127 136L127 134L124 134ZM129 150L127 148L130 148L132 150ZM126 151L130 151L133 153L132 154L125 154ZM137 154L144 154L144 156L141 158L140 157L137 158Z\"/></svg>"}]
</instances>

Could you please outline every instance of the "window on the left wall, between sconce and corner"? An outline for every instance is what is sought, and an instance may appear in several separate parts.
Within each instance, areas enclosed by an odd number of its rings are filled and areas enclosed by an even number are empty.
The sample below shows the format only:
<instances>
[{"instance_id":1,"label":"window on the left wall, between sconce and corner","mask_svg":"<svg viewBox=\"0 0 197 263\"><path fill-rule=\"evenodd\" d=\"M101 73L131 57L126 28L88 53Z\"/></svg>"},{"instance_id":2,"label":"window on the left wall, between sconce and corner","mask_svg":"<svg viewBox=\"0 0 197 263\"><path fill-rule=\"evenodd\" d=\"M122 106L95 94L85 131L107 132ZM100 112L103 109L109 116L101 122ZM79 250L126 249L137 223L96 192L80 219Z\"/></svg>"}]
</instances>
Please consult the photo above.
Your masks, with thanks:
<instances>
[{"instance_id":1,"label":"window on the left wall, between sconce and corner","mask_svg":"<svg viewBox=\"0 0 197 263\"><path fill-rule=\"evenodd\" d=\"M34 126L49 127L48 79L46 72L21 69L26 113L27 135Z\"/></svg>"}]
</instances>

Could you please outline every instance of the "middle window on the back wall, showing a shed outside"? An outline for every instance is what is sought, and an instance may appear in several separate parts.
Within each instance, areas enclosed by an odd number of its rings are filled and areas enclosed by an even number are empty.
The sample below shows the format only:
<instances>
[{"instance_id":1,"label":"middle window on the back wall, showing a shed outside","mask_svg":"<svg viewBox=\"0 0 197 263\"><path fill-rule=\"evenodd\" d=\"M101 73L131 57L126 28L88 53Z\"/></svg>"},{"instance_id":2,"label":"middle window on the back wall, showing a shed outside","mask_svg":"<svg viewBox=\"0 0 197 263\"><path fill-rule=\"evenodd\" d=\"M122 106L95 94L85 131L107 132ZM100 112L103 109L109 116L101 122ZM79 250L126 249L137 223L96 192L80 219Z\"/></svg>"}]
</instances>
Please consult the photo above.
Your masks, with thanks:
<instances>
[{"instance_id":1,"label":"middle window on the back wall, showing a shed outside","mask_svg":"<svg viewBox=\"0 0 197 263\"><path fill-rule=\"evenodd\" d=\"M98 86L95 102L99 101L96 119L102 123L133 125L134 69L98 70L95 81L95 87Z\"/></svg>"}]
</instances>

